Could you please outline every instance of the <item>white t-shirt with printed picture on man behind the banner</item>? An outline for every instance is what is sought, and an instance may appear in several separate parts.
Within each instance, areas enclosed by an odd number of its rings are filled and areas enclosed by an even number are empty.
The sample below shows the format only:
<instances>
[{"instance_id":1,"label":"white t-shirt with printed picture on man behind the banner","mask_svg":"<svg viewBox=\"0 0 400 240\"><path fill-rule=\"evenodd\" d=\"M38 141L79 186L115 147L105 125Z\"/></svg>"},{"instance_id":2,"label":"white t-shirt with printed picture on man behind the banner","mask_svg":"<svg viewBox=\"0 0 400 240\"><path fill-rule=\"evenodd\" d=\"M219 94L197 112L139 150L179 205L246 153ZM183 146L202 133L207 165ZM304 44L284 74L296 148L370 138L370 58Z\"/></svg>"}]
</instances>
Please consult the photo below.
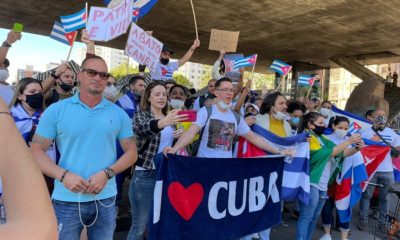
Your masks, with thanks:
<instances>
[{"instance_id":1,"label":"white t-shirt with printed picture on man behind the banner","mask_svg":"<svg viewBox=\"0 0 400 240\"><path fill-rule=\"evenodd\" d=\"M194 124L204 127L200 142L198 157L207 158L231 158L232 143L235 134L246 135L250 128L246 121L240 118L239 126L232 110L220 112L216 105L212 105L212 113L207 121L207 108L202 107L197 113Z\"/></svg>"}]
</instances>

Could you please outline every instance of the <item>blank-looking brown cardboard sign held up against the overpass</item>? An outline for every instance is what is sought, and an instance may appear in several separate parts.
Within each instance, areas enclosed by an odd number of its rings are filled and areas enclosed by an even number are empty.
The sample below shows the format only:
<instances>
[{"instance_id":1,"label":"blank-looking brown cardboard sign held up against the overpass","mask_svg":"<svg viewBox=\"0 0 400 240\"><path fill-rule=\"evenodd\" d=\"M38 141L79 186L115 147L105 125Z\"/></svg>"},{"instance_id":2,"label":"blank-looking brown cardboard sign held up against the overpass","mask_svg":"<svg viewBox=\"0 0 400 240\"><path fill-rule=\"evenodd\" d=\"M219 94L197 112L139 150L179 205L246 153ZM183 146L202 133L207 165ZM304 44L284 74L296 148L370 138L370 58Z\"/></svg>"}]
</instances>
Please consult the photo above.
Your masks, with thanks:
<instances>
[{"instance_id":1,"label":"blank-looking brown cardboard sign held up against the overpass","mask_svg":"<svg viewBox=\"0 0 400 240\"><path fill-rule=\"evenodd\" d=\"M211 29L209 50L236 52L240 32Z\"/></svg>"}]
</instances>

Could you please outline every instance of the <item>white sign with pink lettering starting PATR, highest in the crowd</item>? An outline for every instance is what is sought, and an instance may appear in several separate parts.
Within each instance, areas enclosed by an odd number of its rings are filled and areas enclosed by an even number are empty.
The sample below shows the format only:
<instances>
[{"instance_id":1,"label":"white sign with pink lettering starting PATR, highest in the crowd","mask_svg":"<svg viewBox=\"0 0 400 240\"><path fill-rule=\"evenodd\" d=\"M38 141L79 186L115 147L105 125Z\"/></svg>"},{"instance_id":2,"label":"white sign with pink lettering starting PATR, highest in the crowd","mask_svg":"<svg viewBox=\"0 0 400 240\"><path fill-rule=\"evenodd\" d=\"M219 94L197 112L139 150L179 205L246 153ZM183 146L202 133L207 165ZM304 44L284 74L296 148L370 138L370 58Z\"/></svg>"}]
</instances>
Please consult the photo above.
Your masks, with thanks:
<instances>
[{"instance_id":1,"label":"white sign with pink lettering starting PATR, highest in the crowd","mask_svg":"<svg viewBox=\"0 0 400 240\"><path fill-rule=\"evenodd\" d=\"M131 0L122 1L114 8L91 7L86 26L89 39L108 42L125 34L131 21Z\"/></svg>"}]
</instances>

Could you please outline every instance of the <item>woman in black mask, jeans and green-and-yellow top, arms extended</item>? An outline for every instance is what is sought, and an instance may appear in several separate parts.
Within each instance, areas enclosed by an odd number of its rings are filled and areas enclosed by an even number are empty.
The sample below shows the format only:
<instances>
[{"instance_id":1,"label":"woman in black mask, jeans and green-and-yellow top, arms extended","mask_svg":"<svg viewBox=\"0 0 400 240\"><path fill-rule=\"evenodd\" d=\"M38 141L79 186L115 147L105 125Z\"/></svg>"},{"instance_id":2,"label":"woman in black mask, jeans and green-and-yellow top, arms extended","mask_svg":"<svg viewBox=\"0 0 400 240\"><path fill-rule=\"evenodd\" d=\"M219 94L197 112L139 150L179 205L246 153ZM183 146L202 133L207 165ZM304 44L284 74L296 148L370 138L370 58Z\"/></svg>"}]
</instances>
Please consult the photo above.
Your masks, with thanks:
<instances>
[{"instance_id":1,"label":"woman in black mask, jeans and green-and-yellow top, arms extended","mask_svg":"<svg viewBox=\"0 0 400 240\"><path fill-rule=\"evenodd\" d=\"M327 199L328 182L331 171L331 159L347 157L357 152L348 148L353 143L362 142L359 134L354 134L336 145L325 135L325 118L317 112L307 113L303 117L301 131L310 133L310 200L308 204L299 202L300 217L297 222L296 239L311 240L316 220L321 214Z\"/></svg>"}]
</instances>

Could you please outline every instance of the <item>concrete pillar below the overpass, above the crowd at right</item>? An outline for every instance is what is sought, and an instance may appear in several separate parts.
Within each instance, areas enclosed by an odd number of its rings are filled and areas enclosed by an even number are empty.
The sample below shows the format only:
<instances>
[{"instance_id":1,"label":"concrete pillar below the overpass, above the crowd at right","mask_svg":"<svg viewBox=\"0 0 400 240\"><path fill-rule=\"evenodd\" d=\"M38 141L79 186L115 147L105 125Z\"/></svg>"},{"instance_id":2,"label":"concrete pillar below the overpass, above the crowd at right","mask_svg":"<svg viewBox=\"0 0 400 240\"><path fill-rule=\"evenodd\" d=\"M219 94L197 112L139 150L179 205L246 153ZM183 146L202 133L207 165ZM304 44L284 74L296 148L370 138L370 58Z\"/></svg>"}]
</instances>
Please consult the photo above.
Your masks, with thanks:
<instances>
[{"instance_id":1,"label":"concrete pillar below the overpass, above the crowd at right","mask_svg":"<svg viewBox=\"0 0 400 240\"><path fill-rule=\"evenodd\" d=\"M350 94L346 111L364 116L367 110L380 108L389 113L389 103L384 99L385 79L349 57L339 56L331 60L362 80Z\"/></svg>"}]
</instances>

